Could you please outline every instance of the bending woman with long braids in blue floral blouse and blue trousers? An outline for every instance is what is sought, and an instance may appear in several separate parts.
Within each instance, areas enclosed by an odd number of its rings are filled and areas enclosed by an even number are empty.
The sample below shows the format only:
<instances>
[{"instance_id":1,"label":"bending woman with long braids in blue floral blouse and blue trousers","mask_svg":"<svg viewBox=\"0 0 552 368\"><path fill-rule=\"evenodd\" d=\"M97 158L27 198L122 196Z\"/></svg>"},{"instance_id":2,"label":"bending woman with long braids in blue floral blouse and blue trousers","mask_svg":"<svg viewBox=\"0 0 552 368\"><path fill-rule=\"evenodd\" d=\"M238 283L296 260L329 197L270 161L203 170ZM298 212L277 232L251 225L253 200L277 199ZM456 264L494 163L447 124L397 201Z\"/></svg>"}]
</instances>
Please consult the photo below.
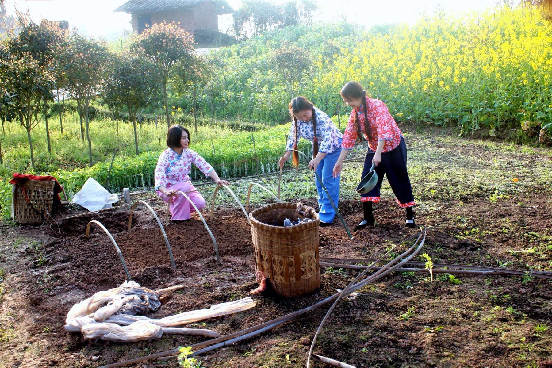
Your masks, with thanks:
<instances>
[{"instance_id":1,"label":"bending woman with long braids in blue floral blouse and blue trousers","mask_svg":"<svg viewBox=\"0 0 552 368\"><path fill-rule=\"evenodd\" d=\"M299 137L311 141L312 159L309 162L309 167L311 170L315 170L322 179L322 183L326 186L331 199L337 206L339 200L339 176L334 178L332 173L333 166L336 164L341 152L343 134L333 124L330 116L315 108L305 97L299 96L294 98L288 107L293 122L289 129L286 152L279 161L280 168L288 161L292 152L293 165L298 167L299 153L292 150L298 149L297 143L299 142ZM317 178L315 182L316 189L318 190L320 226L331 225L336 212L333 210L330 199L322 189L322 185Z\"/></svg>"}]
</instances>

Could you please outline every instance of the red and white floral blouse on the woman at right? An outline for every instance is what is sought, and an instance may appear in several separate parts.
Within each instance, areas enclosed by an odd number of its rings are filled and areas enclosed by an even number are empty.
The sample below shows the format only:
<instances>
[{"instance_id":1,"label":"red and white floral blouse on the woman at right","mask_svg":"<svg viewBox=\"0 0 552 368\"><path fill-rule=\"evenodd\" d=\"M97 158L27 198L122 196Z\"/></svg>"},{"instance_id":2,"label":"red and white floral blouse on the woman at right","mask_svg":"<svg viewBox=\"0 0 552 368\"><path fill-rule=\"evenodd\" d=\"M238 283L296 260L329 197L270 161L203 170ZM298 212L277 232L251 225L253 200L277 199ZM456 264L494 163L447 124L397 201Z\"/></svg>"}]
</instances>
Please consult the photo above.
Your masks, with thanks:
<instances>
[{"instance_id":1,"label":"red and white floral blouse on the woman at right","mask_svg":"<svg viewBox=\"0 0 552 368\"><path fill-rule=\"evenodd\" d=\"M401 142L401 130L395 119L389 113L389 109L385 103L375 98L366 98L366 105L368 106L368 121L370 122L370 137L364 135L364 138L368 141L368 147L370 150L376 151L379 141L385 141L382 153L394 150ZM358 113L358 119L360 124L360 130L364 131L364 106L360 106L360 109L354 109L351 111L347 128L343 133L343 142L341 148L343 150L351 150L354 143L357 141L357 124L355 123L355 115Z\"/></svg>"}]
</instances>

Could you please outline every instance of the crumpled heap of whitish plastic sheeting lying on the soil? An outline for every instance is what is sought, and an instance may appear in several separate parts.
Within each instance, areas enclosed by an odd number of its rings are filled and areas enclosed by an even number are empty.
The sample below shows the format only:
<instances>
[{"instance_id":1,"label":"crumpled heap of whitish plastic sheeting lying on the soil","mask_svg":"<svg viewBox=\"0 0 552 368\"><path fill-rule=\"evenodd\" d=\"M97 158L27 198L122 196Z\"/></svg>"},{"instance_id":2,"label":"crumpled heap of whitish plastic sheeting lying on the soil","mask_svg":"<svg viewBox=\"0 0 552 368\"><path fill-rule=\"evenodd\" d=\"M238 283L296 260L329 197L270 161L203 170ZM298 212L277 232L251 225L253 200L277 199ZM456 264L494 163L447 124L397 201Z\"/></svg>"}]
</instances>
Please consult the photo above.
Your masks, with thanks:
<instances>
[{"instance_id":1,"label":"crumpled heap of whitish plastic sheeting lying on the soil","mask_svg":"<svg viewBox=\"0 0 552 368\"><path fill-rule=\"evenodd\" d=\"M82 302L73 305L67 313L65 330L81 332L85 339L114 342L135 342L160 338L163 333L218 337L218 333L206 329L171 328L248 310L256 305L251 298L220 303L209 309L188 311L161 319L140 314L154 312L161 307L164 298L184 286L150 290L135 281L125 281L108 291L99 291Z\"/></svg>"}]
</instances>

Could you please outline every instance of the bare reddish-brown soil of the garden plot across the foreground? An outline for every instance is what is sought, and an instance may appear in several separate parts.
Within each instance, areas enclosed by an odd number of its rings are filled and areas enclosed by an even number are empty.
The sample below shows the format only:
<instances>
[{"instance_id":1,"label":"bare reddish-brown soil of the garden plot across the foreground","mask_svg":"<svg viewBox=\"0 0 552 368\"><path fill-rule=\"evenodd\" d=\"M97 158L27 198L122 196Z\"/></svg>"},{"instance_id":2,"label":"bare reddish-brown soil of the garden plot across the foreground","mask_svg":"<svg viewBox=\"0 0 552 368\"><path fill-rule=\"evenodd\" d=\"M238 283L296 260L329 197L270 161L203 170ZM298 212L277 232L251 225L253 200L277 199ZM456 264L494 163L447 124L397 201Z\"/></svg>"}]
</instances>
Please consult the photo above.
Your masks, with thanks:
<instances>
[{"instance_id":1,"label":"bare reddish-brown soil of the garden plot across the foreground","mask_svg":"<svg viewBox=\"0 0 552 368\"><path fill-rule=\"evenodd\" d=\"M524 206L514 207L506 201L491 204L484 199L466 201L460 207L442 204L432 214L418 213L417 222L426 225L429 219L429 225L446 225L454 223L457 216L469 215L487 223L507 218L528 227L528 231L552 227L552 209L545 194L520 200ZM362 218L360 203L341 202L339 207L352 229ZM169 335L139 343L87 342L78 333L65 332L66 313L73 303L125 280L123 266L105 233L92 225L91 238L84 238L90 220L102 222L113 234L132 279L142 286L154 290L185 286L153 317L236 300L248 296L257 286L251 229L240 209L217 210L213 221L204 213L218 242L221 264L215 262L213 242L196 214L189 221L168 225L176 270L169 261L160 228L145 208L135 212L130 231L128 207L63 220L74 213L57 215L61 222L59 234L47 227L32 231L4 227L2 247L7 255L2 266L7 289L0 305L4 316L0 321L0 366L100 366L203 340ZM164 207L158 207L157 214L164 219ZM321 228L320 255L378 257L416 232L404 226L403 212L392 199L376 205L374 215L379 226L355 233L353 240L348 239L337 219L333 226ZM508 261L508 268L527 269L522 259L504 252L527 248L527 239L486 228L484 223L479 228L489 230L480 234L479 241L452 232L428 233L422 252L428 252L433 262L500 266L500 262ZM550 261L550 257L544 258L542 265ZM312 295L291 300L270 294L254 296L258 305L251 310L193 326L221 334L254 326L334 294L357 274L321 267L321 288ZM425 274L394 273L380 279L360 290L354 299L339 302L315 353L357 367L526 367L532 361L535 366L552 366L552 290L548 280L467 275L458 275L457 279L461 284L453 284L447 275L433 282ZM413 315L400 319L409 307L414 308ZM322 307L198 358L205 367L305 366L312 336L326 310ZM550 328L535 335L537 322ZM134 366L176 365L172 360Z\"/></svg>"}]
</instances>

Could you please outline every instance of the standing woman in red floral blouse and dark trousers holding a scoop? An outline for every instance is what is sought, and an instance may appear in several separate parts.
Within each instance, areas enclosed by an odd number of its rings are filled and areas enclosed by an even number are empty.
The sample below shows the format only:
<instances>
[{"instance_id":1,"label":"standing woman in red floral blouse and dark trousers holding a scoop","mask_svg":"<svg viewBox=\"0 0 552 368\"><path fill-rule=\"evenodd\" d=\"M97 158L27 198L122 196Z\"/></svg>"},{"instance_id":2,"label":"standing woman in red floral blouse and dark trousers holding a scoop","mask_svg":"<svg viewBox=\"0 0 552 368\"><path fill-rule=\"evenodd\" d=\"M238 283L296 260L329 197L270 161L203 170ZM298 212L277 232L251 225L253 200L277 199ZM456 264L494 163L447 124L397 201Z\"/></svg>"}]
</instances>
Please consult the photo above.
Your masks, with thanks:
<instances>
[{"instance_id":1,"label":"standing woman in red floral blouse and dark trousers holding a scoop","mask_svg":"<svg viewBox=\"0 0 552 368\"><path fill-rule=\"evenodd\" d=\"M368 141L368 153L364 160L361 178L368 174L372 164L375 164L375 172L378 174L378 185L368 193L362 194L364 219L355 227L355 231L374 225L372 203L380 201L380 188L384 174L389 180L397 202L406 210L406 226L415 228L416 223L412 212L415 202L406 169L406 144L401 130L385 103L367 97L360 83L353 81L345 84L341 89L341 97L353 111L343 134L341 154L333 168L333 175L341 173L343 159L347 157L357 138L362 141L362 136ZM366 121L369 124L366 124Z\"/></svg>"}]
</instances>

